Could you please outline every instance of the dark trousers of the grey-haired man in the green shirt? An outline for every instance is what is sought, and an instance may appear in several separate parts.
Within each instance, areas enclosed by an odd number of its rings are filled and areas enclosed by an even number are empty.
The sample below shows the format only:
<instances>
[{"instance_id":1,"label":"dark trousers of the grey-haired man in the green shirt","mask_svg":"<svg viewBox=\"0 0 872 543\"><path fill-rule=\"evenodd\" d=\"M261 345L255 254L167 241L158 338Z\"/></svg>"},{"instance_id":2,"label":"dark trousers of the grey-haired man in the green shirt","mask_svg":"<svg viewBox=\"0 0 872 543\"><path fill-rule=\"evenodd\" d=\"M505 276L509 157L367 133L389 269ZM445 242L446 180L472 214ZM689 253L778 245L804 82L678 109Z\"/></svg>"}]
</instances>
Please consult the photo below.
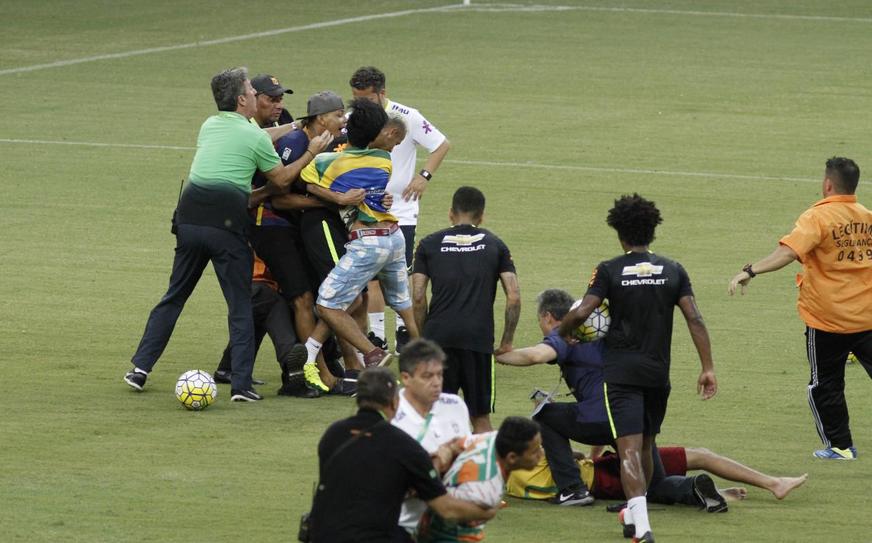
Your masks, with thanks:
<instances>
[{"instance_id":1,"label":"dark trousers of the grey-haired man in the green shirt","mask_svg":"<svg viewBox=\"0 0 872 543\"><path fill-rule=\"evenodd\" d=\"M209 262L227 301L230 328L231 387L251 388L254 365L254 320L251 313L251 248L242 234L211 226L180 224L176 232L176 256L170 285L152 309L133 365L151 371L169 343L185 302Z\"/></svg>"}]
</instances>

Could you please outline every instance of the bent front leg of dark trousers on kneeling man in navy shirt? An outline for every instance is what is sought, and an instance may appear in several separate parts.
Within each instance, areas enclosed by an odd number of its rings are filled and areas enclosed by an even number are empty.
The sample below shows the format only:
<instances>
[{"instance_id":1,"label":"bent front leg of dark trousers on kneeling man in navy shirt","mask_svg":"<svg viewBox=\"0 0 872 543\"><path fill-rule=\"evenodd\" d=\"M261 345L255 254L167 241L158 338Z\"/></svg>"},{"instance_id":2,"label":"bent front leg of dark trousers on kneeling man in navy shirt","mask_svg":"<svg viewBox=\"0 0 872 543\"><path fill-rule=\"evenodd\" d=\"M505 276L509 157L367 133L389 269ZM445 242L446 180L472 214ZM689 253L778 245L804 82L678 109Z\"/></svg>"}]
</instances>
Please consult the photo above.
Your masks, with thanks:
<instances>
[{"instance_id":1,"label":"bent front leg of dark trousers on kneeling man in navy shirt","mask_svg":"<svg viewBox=\"0 0 872 543\"><path fill-rule=\"evenodd\" d=\"M581 423L578 408L572 403L549 403L535 417L542 434L542 447L557 488L566 491L583 487L578 464L572 458L570 440L586 445L613 445L609 423Z\"/></svg>"}]
</instances>

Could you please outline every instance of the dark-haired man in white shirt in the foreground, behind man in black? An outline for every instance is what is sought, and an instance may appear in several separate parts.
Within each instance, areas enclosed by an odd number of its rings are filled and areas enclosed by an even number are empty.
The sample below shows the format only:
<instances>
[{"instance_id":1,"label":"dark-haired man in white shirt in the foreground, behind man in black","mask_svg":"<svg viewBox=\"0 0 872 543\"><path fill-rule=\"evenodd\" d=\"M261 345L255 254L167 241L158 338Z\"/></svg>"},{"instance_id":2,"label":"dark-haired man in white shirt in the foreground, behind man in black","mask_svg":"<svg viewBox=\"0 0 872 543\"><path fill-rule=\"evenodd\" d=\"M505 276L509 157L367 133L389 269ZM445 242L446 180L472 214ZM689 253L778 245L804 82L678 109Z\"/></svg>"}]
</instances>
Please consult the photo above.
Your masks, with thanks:
<instances>
[{"instance_id":1,"label":"dark-haired man in white shirt in the foreground, behind man in black","mask_svg":"<svg viewBox=\"0 0 872 543\"><path fill-rule=\"evenodd\" d=\"M400 405L392 424L421 444L444 471L471 435L469 411L460 396L442 393L445 353L426 339L410 341L400 353ZM440 450L441 449L441 450ZM427 505L418 498L403 502L400 526L414 534ZM411 537L411 535L410 535ZM412 541L409 539L409 541Z\"/></svg>"}]
</instances>

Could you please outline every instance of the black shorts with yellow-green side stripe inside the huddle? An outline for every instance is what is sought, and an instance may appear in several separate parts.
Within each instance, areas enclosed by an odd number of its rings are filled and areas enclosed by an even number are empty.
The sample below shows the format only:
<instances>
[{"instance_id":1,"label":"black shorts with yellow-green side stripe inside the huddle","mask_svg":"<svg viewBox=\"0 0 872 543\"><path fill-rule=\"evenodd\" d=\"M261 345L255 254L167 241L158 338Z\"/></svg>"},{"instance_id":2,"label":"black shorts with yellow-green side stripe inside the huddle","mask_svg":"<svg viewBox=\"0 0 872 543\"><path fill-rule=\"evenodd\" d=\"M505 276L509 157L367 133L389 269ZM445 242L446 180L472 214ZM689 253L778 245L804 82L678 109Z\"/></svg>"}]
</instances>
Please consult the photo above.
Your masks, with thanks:
<instances>
[{"instance_id":1,"label":"black shorts with yellow-green side stripe inside the huddle","mask_svg":"<svg viewBox=\"0 0 872 543\"><path fill-rule=\"evenodd\" d=\"M339 213L326 208L307 209L300 218L300 236L309 261L315 292L345 254L348 230Z\"/></svg>"}]
</instances>

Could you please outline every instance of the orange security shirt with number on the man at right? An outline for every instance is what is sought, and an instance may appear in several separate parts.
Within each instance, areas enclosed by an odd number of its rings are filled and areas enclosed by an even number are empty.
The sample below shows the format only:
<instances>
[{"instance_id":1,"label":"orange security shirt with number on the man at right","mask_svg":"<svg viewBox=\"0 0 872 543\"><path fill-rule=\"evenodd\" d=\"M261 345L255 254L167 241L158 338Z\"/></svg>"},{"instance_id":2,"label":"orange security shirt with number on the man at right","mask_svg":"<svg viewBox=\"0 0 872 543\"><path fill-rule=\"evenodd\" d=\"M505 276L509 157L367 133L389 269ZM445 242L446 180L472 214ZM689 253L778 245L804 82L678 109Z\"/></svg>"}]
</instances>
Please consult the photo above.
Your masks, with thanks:
<instances>
[{"instance_id":1,"label":"orange security shirt with number on the man at right","mask_svg":"<svg viewBox=\"0 0 872 543\"><path fill-rule=\"evenodd\" d=\"M818 330L872 330L872 211L853 194L837 194L799 216L780 243L802 262L797 310Z\"/></svg>"}]
</instances>

